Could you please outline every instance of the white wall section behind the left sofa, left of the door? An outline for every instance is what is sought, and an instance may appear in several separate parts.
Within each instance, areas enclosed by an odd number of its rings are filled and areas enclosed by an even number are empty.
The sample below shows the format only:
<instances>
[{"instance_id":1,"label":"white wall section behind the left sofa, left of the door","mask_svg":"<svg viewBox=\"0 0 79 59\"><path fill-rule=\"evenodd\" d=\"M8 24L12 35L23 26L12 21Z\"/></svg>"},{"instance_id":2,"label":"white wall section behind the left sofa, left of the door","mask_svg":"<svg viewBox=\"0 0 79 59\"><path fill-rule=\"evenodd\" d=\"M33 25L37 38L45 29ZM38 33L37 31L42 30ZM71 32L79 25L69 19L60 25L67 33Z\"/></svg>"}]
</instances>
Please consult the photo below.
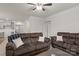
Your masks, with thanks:
<instances>
[{"instance_id":1,"label":"white wall section behind the left sofa, left of the door","mask_svg":"<svg viewBox=\"0 0 79 59\"><path fill-rule=\"evenodd\" d=\"M44 33L45 32L45 29L43 27L44 21L45 20L43 18L31 16L24 23L25 24L24 32L26 32L26 33L29 33L29 32L43 32Z\"/></svg>"}]
</instances>

